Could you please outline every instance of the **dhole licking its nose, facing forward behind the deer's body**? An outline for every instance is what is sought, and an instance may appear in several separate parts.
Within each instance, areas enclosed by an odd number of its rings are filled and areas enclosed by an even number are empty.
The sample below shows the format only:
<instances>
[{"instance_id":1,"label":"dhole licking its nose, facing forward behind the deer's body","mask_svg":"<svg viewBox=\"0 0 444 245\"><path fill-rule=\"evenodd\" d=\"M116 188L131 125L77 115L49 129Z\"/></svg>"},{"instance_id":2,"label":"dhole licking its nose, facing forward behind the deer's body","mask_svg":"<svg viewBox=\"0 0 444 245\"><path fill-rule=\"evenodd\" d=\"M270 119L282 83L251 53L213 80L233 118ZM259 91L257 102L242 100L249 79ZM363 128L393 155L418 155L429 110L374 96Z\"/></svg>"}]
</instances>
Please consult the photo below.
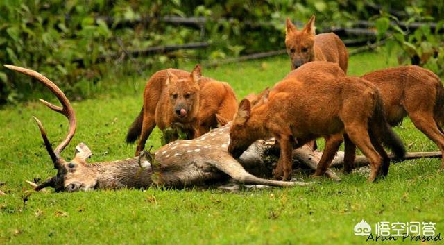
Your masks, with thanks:
<instances>
[{"instance_id":1,"label":"dhole licking its nose, facing forward behind the deer's body","mask_svg":"<svg viewBox=\"0 0 444 245\"><path fill-rule=\"evenodd\" d=\"M144 105L126 142L133 143L140 136L135 152L139 155L156 125L160 130L180 128L192 139L231 121L236 110L230 85L201 76L200 65L191 74L178 69L157 71L146 83Z\"/></svg>"}]
</instances>

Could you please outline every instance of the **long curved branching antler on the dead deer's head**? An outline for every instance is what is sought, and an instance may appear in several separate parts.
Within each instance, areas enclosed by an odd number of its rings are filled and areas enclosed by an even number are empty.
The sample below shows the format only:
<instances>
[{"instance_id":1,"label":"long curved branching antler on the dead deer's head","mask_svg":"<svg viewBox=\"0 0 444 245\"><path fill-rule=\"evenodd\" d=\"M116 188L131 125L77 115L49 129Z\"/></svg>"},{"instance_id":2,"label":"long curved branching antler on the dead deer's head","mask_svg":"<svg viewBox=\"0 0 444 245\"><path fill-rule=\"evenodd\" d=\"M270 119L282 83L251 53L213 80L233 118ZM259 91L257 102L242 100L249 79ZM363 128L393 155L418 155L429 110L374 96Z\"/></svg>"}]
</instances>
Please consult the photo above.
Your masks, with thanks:
<instances>
[{"instance_id":1,"label":"long curved branching antler on the dead deer's head","mask_svg":"<svg viewBox=\"0 0 444 245\"><path fill-rule=\"evenodd\" d=\"M44 145L46 146L46 151L48 151L49 156L51 156L51 160L54 163L54 167L58 168L60 166L60 160L62 158L60 157L60 153L62 153L63 149L69 144L72 137L74 136L74 133L76 133L76 115L74 113L74 109L71 106L71 103L69 103L69 100L65 96L65 94L60 90L56 84L54 84L52 81L50 81L48 78L43 76L42 74L38 73L37 71L33 71L30 69L26 69L23 67L16 67L14 65L4 65L6 68L11 69L13 71L18 71L22 74L26 74L28 76L32 76L33 78L36 78L40 83L43 83L46 87L53 92L53 94L56 94L57 99L62 104L62 107L53 105L49 103L48 101L45 101L43 99L39 99L40 102L44 103L47 107L49 107L51 110L54 110L56 112L59 112L62 115L65 115L69 121L69 130L67 133L67 136L65 137L65 140L63 140L55 150L53 150L51 143L48 140L48 137L46 137L46 132L44 130L44 127L42 123L40 122L37 117L33 117L35 121L37 122L37 125L40 128L40 133L42 134L42 138L44 141Z\"/></svg>"}]
</instances>

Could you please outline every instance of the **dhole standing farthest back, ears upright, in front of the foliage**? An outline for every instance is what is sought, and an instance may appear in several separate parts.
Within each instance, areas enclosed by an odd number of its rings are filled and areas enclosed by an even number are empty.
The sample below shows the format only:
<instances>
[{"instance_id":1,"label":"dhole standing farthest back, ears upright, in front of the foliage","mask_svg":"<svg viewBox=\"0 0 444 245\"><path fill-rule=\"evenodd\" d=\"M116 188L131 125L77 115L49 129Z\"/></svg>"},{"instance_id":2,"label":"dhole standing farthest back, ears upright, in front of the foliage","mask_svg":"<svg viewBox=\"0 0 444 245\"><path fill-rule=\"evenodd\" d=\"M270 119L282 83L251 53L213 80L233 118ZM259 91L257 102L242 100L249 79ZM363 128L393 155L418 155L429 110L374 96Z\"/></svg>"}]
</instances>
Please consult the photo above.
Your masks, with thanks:
<instances>
[{"instance_id":1,"label":"dhole standing farthest back, ears upright, in front of the foliage","mask_svg":"<svg viewBox=\"0 0 444 245\"><path fill-rule=\"evenodd\" d=\"M316 35L314 15L302 31L287 18L285 35L285 47L291 59L291 69L311 61L328 61L339 64L339 67L347 73L348 52L344 43L334 33Z\"/></svg>"}]
</instances>

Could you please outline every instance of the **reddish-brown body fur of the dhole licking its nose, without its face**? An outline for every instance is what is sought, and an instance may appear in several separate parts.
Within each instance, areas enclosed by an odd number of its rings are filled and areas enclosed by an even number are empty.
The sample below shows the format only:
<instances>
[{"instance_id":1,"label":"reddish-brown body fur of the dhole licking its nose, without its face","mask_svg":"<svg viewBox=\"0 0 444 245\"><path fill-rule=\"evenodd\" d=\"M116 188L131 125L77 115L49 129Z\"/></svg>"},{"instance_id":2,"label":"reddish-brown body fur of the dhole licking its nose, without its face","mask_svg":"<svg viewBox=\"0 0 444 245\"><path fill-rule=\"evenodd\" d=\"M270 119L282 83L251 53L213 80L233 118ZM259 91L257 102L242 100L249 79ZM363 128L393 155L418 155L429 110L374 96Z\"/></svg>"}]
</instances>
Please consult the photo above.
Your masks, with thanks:
<instances>
[{"instance_id":1,"label":"reddish-brown body fur of the dhole licking its nose, without its face","mask_svg":"<svg viewBox=\"0 0 444 245\"><path fill-rule=\"evenodd\" d=\"M186 94L188 91L185 87L179 86L171 86L166 90L168 71L181 80L182 84L192 83L191 74L179 69L157 71L151 76L146 83L142 111L127 135L127 142L133 142L140 135L135 155L144 149L145 142L156 124L162 130L174 122L175 116L171 109L171 100L167 99L168 94L179 93L179 90L184 90ZM228 83L205 77L200 77L198 80L198 96L194 97L191 106L194 110L187 113L186 120L180 121L182 128L194 132L189 135L190 138L207 133L210 128L216 128L218 124L226 124L237 111L237 99Z\"/></svg>"}]
</instances>

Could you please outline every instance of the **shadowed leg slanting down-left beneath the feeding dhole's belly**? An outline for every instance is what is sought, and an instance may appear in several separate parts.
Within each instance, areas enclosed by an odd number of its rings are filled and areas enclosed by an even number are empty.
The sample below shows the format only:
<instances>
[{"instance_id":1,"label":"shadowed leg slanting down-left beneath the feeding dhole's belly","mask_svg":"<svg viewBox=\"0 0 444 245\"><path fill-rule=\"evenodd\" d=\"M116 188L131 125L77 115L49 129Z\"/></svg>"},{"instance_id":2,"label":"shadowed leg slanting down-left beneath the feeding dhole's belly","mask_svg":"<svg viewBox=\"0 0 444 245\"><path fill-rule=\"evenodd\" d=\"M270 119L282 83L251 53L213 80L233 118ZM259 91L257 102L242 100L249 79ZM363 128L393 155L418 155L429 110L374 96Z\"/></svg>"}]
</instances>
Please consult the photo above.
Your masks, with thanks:
<instances>
[{"instance_id":1,"label":"shadowed leg slanting down-left beneath the feeding dhole's belly","mask_svg":"<svg viewBox=\"0 0 444 245\"><path fill-rule=\"evenodd\" d=\"M314 172L314 176L322 176L330 167L334 155L338 152L339 146L342 144L342 135L329 135L325 137L325 149L322 154L321 160L319 160L318 167Z\"/></svg>"}]
</instances>

